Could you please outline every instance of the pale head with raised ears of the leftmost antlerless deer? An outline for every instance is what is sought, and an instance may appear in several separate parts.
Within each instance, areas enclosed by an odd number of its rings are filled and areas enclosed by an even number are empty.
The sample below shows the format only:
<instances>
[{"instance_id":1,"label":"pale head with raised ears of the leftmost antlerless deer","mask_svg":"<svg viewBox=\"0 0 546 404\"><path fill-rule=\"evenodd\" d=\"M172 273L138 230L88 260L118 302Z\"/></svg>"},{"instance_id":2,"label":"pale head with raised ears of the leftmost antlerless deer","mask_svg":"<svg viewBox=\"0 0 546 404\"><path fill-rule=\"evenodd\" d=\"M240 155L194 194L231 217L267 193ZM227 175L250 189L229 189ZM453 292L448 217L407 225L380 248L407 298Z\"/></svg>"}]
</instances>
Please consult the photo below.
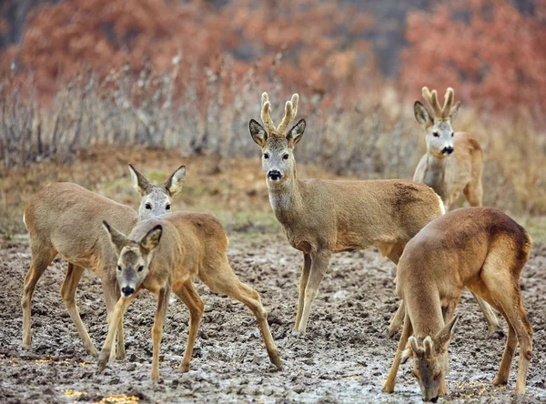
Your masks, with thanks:
<instances>
[{"instance_id":1,"label":"pale head with raised ears of the leftmost antlerless deer","mask_svg":"<svg viewBox=\"0 0 546 404\"><path fill-rule=\"evenodd\" d=\"M186 167L177 168L162 186L155 186L147 177L129 164L129 171L133 178L133 187L141 195L138 207L138 220L147 220L158 217L171 211L171 197L182 189L182 181L186 178Z\"/></svg>"}]
</instances>

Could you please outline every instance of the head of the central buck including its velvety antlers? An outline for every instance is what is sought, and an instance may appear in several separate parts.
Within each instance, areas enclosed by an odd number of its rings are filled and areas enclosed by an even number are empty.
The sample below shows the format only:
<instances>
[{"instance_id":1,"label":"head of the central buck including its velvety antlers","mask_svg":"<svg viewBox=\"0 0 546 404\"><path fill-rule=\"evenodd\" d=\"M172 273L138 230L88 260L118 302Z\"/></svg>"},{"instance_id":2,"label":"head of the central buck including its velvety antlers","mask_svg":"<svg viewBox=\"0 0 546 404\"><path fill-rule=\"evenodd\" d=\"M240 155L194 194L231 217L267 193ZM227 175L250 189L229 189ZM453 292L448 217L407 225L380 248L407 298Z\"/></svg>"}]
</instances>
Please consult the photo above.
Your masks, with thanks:
<instances>
[{"instance_id":1,"label":"head of the central buck including its velvety antlers","mask_svg":"<svg viewBox=\"0 0 546 404\"><path fill-rule=\"evenodd\" d=\"M261 119L264 126L250 119L248 127L252 139L261 147L262 168L267 177L268 187L278 187L287 179L293 179L296 167L294 146L305 131L305 119L288 130L288 125L298 112L298 94L294 94L285 106L285 116L275 127L271 119L271 103L268 93L262 94Z\"/></svg>"}]
</instances>

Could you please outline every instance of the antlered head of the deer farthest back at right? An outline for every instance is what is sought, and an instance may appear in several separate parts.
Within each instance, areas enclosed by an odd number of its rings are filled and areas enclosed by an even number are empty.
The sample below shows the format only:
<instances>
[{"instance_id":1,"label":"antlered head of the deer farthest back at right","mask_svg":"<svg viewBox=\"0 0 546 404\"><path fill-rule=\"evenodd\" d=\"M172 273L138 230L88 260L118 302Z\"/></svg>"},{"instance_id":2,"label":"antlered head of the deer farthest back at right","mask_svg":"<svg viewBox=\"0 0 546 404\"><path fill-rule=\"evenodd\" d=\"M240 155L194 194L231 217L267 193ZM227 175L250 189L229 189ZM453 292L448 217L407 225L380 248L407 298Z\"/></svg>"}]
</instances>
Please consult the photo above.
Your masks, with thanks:
<instances>
[{"instance_id":1,"label":"antlered head of the deer farthest back at right","mask_svg":"<svg viewBox=\"0 0 546 404\"><path fill-rule=\"evenodd\" d=\"M427 151L438 158L450 156L453 153L454 135L451 120L457 115L460 102L453 105L454 92L451 87L446 91L443 107L440 107L436 90L430 92L428 87L423 87L422 95L432 112L419 101L415 101L413 112L427 134Z\"/></svg>"}]
</instances>

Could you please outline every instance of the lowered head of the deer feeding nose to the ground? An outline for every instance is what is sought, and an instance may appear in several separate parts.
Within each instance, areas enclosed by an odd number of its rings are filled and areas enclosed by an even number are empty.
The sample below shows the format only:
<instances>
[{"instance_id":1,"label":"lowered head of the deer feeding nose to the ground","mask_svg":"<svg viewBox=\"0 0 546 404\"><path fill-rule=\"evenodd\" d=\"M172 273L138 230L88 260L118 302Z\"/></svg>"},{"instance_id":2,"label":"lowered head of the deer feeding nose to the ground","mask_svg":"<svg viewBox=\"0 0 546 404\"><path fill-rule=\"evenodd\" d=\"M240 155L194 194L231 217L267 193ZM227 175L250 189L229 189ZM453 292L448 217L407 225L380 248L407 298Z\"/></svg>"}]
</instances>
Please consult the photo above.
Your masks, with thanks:
<instances>
[{"instance_id":1,"label":"lowered head of the deer feeding nose to the ground","mask_svg":"<svg viewBox=\"0 0 546 404\"><path fill-rule=\"evenodd\" d=\"M422 345L417 338L410 337L410 346L402 353L402 361L413 358L413 375L420 385L423 401L436 402L445 386L446 375L450 369L448 358L448 346L453 337L453 329L457 323L457 317L440 329L434 337L423 339Z\"/></svg>"}]
</instances>

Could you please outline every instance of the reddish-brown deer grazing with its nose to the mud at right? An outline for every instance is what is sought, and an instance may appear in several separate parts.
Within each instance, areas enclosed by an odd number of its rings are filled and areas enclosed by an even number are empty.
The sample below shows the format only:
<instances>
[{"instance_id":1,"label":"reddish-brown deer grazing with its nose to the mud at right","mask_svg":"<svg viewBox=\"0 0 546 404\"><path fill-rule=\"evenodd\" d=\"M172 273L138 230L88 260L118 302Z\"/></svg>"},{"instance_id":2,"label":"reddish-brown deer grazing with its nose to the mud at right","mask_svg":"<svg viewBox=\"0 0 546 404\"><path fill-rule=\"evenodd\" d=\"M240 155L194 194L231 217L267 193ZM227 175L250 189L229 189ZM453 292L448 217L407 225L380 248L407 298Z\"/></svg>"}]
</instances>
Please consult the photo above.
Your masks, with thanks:
<instances>
[{"instance_id":1,"label":"reddish-brown deer grazing with its nose to the mud at right","mask_svg":"<svg viewBox=\"0 0 546 404\"><path fill-rule=\"evenodd\" d=\"M532 329L521 302L520 274L530 249L531 237L525 229L489 207L454 210L423 227L399 259L396 290L407 313L385 391L394 391L400 361L412 357L423 400L435 402L447 394L448 345L457 322L453 311L462 288L469 288L508 323L501 368L493 384L508 381L520 343L516 392L524 394Z\"/></svg>"}]
</instances>

